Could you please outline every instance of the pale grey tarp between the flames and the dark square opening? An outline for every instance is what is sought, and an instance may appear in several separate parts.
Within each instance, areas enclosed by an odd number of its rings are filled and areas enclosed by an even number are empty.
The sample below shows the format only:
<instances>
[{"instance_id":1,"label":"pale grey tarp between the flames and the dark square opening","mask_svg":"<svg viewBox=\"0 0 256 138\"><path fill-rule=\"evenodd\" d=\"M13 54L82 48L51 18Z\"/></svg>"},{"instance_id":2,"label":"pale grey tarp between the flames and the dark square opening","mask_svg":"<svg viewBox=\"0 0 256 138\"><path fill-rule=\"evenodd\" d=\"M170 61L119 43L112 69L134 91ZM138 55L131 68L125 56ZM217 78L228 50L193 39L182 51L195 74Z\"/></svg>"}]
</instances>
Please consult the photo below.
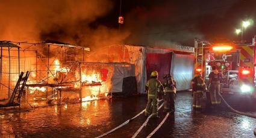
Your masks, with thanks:
<instances>
[{"instance_id":1,"label":"pale grey tarp between the flames and the dark square opening","mask_svg":"<svg viewBox=\"0 0 256 138\"><path fill-rule=\"evenodd\" d=\"M122 92L123 78L135 76L135 66L133 64L115 64L114 73L111 77L110 92Z\"/></svg>"}]
</instances>

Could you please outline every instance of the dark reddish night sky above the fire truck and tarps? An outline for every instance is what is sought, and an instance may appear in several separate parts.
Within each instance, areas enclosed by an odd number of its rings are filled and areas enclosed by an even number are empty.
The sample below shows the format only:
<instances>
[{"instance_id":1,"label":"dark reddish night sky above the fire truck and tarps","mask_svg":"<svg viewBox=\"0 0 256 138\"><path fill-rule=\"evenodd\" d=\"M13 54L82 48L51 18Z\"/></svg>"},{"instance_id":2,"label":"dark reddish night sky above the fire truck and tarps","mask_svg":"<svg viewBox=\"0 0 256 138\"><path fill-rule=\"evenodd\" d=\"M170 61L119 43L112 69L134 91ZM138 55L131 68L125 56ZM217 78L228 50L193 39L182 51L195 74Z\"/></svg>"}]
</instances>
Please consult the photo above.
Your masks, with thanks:
<instances>
[{"instance_id":1,"label":"dark reddish night sky above the fire truck and tarps","mask_svg":"<svg viewBox=\"0 0 256 138\"><path fill-rule=\"evenodd\" d=\"M179 1L126 1L122 0L125 23L120 31L131 34L125 43L154 45L155 41L170 41L193 46L194 38L214 42L240 40L234 34L242 20L256 19L254 0L179 0ZM120 1L114 2L111 12L96 22L118 28ZM251 43L256 34L255 24L244 31L244 39Z\"/></svg>"}]
</instances>

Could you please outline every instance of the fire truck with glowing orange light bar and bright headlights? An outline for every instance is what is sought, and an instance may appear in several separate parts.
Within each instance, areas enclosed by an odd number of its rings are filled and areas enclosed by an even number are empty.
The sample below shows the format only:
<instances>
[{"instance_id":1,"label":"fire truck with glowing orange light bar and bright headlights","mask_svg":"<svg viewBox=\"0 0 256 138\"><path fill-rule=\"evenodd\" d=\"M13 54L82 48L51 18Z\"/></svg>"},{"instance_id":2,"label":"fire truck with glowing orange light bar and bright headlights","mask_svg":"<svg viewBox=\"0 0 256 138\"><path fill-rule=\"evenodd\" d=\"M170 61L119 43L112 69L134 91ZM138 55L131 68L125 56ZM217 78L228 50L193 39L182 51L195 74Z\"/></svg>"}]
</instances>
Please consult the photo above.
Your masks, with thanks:
<instances>
[{"instance_id":1,"label":"fire truck with glowing orange light bar and bright headlights","mask_svg":"<svg viewBox=\"0 0 256 138\"><path fill-rule=\"evenodd\" d=\"M195 69L201 70L208 83L211 67L215 65L223 74L222 94L248 95L256 99L255 37L251 44L209 43L195 40Z\"/></svg>"}]
</instances>

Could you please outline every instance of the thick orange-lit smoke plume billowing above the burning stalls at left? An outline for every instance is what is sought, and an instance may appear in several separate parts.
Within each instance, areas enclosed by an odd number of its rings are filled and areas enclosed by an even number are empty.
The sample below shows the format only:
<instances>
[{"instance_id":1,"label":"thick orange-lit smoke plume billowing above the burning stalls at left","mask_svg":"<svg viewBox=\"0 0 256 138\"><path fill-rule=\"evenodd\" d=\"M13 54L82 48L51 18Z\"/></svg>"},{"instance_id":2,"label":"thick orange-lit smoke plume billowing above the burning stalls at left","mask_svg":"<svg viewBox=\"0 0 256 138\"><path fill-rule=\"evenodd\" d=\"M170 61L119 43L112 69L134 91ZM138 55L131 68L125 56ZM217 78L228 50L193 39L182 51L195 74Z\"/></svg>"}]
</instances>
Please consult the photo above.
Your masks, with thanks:
<instances>
[{"instance_id":1,"label":"thick orange-lit smoke plume billowing above the burning stalls at left","mask_svg":"<svg viewBox=\"0 0 256 138\"><path fill-rule=\"evenodd\" d=\"M110 0L0 0L0 40L64 41L85 47L120 43L127 35L99 25L113 9Z\"/></svg>"}]
</instances>

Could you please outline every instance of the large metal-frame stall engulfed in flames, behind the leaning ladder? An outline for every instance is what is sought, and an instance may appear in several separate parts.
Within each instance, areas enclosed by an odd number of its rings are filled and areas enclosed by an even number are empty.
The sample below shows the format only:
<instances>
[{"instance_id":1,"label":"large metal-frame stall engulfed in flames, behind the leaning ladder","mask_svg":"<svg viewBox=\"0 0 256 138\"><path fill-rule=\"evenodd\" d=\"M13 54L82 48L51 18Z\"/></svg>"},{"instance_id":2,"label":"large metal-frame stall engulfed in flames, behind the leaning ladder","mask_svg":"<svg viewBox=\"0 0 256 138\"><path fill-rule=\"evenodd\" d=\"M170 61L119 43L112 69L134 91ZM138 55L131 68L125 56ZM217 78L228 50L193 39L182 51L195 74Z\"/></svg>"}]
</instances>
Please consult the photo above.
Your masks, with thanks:
<instances>
[{"instance_id":1,"label":"large metal-frame stall engulfed in flames, behind the leaning ladder","mask_svg":"<svg viewBox=\"0 0 256 138\"><path fill-rule=\"evenodd\" d=\"M58 41L43 41L29 46L36 51L36 60L30 64L31 76L27 83L27 100L35 106L81 101L81 63L89 48Z\"/></svg>"}]
</instances>

